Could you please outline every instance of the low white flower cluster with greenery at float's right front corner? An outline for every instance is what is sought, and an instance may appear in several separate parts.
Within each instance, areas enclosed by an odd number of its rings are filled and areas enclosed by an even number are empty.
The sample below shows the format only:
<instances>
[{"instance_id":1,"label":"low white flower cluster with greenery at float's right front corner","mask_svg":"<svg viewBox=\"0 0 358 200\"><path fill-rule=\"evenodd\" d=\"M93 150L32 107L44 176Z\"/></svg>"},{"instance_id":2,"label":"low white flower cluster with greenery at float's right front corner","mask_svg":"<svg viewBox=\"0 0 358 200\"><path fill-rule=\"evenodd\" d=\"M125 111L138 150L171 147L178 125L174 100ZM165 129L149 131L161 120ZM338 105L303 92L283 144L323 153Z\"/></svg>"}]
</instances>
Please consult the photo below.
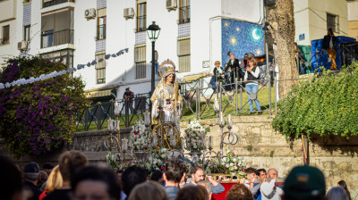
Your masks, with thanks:
<instances>
[{"instance_id":1,"label":"low white flower cluster with greenery at float's right front corner","mask_svg":"<svg viewBox=\"0 0 358 200\"><path fill-rule=\"evenodd\" d=\"M207 162L207 168L213 173L232 174L237 176L238 179L246 175L243 158L240 158L231 150L227 150L226 157L223 157L221 160L212 159Z\"/></svg>"}]
</instances>

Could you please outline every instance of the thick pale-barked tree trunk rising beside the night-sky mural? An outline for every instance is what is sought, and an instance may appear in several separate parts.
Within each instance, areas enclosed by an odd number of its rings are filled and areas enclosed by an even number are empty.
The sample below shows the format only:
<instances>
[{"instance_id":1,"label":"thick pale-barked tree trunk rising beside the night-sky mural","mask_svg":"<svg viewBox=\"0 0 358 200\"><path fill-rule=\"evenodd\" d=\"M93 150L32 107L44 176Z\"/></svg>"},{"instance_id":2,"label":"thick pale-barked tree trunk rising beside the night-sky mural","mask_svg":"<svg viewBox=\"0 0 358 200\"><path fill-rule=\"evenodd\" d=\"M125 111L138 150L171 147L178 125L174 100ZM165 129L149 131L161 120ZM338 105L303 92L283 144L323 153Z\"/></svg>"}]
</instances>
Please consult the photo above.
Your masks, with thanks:
<instances>
[{"instance_id":1,"label":"thick pale-barked tree trunk rising beside the night-sky mural","mask_svg":"<svg viewBox=\"0 0 358 200\"><path fill-rule=\"evenodd\" d=\"M277 45L277 64L280 79L297 79L298 70L294 62L294 2L277 0L276 7L268 12L268 29ZM287 96L296 80L280 81L280 99Z\"/></svg>"}]
</instances>

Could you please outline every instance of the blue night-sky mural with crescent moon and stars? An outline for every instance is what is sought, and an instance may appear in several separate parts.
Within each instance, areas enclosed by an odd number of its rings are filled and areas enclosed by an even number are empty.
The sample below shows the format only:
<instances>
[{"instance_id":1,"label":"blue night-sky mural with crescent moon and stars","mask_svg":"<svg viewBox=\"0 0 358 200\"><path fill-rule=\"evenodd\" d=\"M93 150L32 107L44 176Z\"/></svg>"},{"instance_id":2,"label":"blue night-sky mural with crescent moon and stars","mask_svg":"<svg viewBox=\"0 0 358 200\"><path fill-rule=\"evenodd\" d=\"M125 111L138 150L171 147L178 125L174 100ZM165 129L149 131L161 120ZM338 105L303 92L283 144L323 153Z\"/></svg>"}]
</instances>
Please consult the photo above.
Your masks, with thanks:
<instances>
[{"instance_id":1,"label":"blue night-sky mural with crescent moon and stars","mask_svg":"<svg viewBox=\"0 0 358 200\"><path fill-rule=\"evenodd\" d=\"M222 63L230 59L227 52L231 51L236 58L243 58L246 53L256 56L264 53L264 32L260 24L245 21L223 19L222 27Z\"/></svg>"}]
</instances>

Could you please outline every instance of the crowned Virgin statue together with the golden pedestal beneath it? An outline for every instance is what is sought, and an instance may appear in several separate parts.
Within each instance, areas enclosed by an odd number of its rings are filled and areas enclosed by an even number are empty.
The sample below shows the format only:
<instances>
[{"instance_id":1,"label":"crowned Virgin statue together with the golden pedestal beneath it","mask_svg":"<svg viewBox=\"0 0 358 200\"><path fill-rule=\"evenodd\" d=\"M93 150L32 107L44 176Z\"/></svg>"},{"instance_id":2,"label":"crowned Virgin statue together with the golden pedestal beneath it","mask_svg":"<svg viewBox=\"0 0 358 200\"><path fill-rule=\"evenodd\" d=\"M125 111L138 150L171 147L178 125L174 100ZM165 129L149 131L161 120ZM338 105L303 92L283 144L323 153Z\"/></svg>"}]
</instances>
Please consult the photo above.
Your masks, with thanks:
<instances>
[{"instance_id":1,"label":"crowned Virgin statue together with the golden pedestal beneath it","mask_svg":"<svg viewBox=\"0 0 358 200\"><path fill-rule=\"evenodd\" d=\"M162 68L165 68L162 74ZM159 75L162 78L153 95L151 121L154 125L154 140L162 141L162 145L175 148L181 145L180 141L180 116L182 114L183 98L179 94L178 81L175 79L175 64L169 59L159 66ZM164 144L163 144L164 143Z\"/></svg>"}]
</instances>

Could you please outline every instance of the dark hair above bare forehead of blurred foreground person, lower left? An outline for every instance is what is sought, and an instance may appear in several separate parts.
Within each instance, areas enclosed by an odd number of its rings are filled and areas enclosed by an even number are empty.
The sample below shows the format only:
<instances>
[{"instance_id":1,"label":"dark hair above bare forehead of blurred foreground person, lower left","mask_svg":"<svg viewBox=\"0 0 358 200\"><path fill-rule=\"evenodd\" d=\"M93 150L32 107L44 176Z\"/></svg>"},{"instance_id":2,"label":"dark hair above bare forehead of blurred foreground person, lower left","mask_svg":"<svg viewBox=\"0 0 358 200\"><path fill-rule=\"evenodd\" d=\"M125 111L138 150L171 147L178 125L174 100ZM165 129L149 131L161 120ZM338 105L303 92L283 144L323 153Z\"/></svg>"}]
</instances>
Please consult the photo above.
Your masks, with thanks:
<instances>
[{"instance_id":1,"label":"dark hair above bare forehead of blurred foreground person, lower left","mask_svg":"<svg viewBox=\"0 0 358 200\"><path fill-rule=\"evenodd\" d=\"M107 193L109 196L120 199L121 187L119 187L118 179L115 178L115 173L105 166L87 166L80 171L76 171L73 175L71 186L72 191L76 191L76 187L81 181L94 180L106 183Z\"/></svg>"}]
</instances>

